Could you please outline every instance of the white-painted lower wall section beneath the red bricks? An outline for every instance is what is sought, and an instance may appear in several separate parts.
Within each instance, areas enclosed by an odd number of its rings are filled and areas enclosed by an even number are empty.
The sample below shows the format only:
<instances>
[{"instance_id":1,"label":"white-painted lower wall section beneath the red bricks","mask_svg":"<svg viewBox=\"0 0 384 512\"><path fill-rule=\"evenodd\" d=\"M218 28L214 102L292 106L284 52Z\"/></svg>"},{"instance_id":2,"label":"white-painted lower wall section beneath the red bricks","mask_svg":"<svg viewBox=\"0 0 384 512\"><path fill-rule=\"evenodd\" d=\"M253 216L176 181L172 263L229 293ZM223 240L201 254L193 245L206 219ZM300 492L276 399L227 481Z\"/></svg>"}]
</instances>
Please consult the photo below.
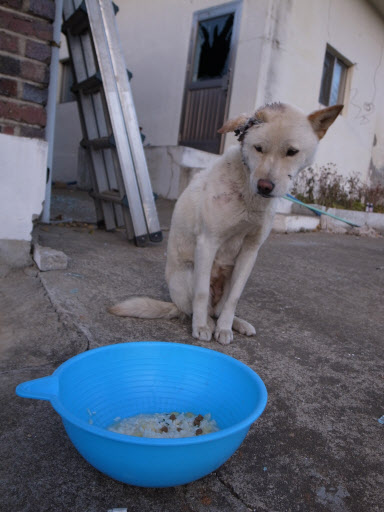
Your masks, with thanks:
<instances>
[{"instance_id":1,"label":"white-painted lower wall section beneath the red bricks","mask_svg":"<svg viewBox=\"0 0 384 512\"><path fill-rule=\"evenodd\" d=\"M0 134L0 241L30 241L43 207L48 144Z\"/></svg>"}]
</instances>

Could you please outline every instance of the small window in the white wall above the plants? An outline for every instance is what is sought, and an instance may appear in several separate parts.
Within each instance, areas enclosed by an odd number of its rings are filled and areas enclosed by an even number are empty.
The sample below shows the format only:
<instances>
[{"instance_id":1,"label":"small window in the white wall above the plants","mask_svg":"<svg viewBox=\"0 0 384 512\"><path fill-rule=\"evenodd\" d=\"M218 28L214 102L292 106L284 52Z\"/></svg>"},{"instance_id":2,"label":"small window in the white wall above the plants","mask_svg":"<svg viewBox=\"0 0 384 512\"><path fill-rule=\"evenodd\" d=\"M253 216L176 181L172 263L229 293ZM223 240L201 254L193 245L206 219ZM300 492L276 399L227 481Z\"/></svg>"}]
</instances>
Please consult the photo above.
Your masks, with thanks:
<instances>
[{"instance_id":1,"label":"small window in the white wall above the plants","mask_svg":"<svg viewBox=\"0 0 384 512\"><path fill-rule=\"evenodd\" d=\"M327 47L319 101L325 106L344 102L345 83L349 64L333 48Z\"/></svg>"}]
</instances>

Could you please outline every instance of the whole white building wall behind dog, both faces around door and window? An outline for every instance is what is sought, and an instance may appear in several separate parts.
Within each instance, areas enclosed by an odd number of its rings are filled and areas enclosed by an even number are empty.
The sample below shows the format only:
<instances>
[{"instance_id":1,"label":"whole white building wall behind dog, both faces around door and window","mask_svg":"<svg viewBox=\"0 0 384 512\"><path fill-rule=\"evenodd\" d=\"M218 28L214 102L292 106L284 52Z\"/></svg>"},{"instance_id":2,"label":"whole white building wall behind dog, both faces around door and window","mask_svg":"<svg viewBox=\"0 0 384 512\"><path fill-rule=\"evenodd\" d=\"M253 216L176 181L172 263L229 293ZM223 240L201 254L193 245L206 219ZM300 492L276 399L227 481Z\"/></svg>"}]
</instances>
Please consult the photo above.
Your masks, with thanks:
<instances>
[{"instance_id":1,"label":"whole white building wall behind dog, both faces around door and window","mask_svg":"<svg viewBox=\"0 0 384 512\"><path fill-rule=\"evenodd\" d=\"M116 0L147 144L177 145L193 14L228 1ZM243 0L229 117L270 101L321 108L327 44L353 65L343 115L321 141L316 165L384 181L384 18L366 0ZM226 135L225 147L234 143Z\"/></svg>"}]
</instances>

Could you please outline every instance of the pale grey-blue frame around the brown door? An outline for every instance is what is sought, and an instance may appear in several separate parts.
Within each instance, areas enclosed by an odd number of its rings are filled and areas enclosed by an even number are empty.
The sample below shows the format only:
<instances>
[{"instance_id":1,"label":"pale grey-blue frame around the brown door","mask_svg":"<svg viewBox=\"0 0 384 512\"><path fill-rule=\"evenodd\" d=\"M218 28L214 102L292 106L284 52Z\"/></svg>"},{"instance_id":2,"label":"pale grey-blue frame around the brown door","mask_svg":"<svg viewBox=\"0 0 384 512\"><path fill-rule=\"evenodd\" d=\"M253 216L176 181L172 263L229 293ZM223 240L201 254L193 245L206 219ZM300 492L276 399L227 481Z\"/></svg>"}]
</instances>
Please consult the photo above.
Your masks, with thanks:
<instances>
[{"instance_id":1,"label":"pale grey-blue frame around the brown door","mask_svg":"<svg viewBox=\"0 0 384 512\"><path fill-rule=\"evenodd\" d=\"M227 119L229 103L230 103L230 99L231 99L231 92L232 92L232 82L233 82L233 76L234 76L236 52L237 52L237 46L238 46L238 41L239 41L242 6L243 6L243 0L234 0L233 2L214 5L212 7L208 7L206 9L201 9L201 10L193 13L191 36L189 39L187 69L186 69L185 81L184 81L183 103L182 103L180 123L179 123L178 144L180 144L181 133L182 133L182 129L183 129L184 121L185 121L186 100L187 100L188 89L190 88L189 84L192 79L193 63L194 63L194 57L195 57L195 52L196 52L196 46L197 46L197 30L198 30L199 22L208 20L211 18L216 18L218 16L222 16L225 14L234 13L231 48L230 48L229 62L228 62L228 75L224 78L227 81L227 84L226 84L227 95L226 95L226 100L225 100L223 122ZM206 81L206 88L210 87L209 82L210 82L209 80ZM225 87L225 84L223 84L223 86ZM219 154L223 153L224 142L225 142L225 135L223 134L223 135L221 135Z\"/></svg>"}]
</instances>

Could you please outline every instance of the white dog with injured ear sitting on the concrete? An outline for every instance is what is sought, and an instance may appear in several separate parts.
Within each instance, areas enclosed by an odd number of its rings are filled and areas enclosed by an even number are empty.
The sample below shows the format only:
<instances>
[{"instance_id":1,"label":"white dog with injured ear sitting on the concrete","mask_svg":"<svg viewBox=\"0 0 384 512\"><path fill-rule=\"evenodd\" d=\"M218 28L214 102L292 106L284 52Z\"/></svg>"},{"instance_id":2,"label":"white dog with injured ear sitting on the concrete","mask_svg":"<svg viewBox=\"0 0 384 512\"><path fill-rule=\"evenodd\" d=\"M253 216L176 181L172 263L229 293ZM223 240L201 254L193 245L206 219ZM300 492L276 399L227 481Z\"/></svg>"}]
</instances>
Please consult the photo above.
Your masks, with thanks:
<instances>
[{"instance_id":1,"label":"white dog with injured ear sitting on the concrete","mask_svg":"<svg viewBox=\"0 0 384 512\"><path fill-rule=\"evenodd\" d=\"M219 131L234 130L241 143L197 174L175 206L166 263L173 302L131 297L109 311L139 318L192 315L195 338L209 341L214 334L224 345L232 341L232 329L255 334L251 324L235 316L238 300L271 231L278 198L312 163L319 140L341 109L337 105L306 116L291 105L273 103L254 116L228 121ZM259 180L272 182L273 190L263 195Z\"/></svg>"}]
</instances>

